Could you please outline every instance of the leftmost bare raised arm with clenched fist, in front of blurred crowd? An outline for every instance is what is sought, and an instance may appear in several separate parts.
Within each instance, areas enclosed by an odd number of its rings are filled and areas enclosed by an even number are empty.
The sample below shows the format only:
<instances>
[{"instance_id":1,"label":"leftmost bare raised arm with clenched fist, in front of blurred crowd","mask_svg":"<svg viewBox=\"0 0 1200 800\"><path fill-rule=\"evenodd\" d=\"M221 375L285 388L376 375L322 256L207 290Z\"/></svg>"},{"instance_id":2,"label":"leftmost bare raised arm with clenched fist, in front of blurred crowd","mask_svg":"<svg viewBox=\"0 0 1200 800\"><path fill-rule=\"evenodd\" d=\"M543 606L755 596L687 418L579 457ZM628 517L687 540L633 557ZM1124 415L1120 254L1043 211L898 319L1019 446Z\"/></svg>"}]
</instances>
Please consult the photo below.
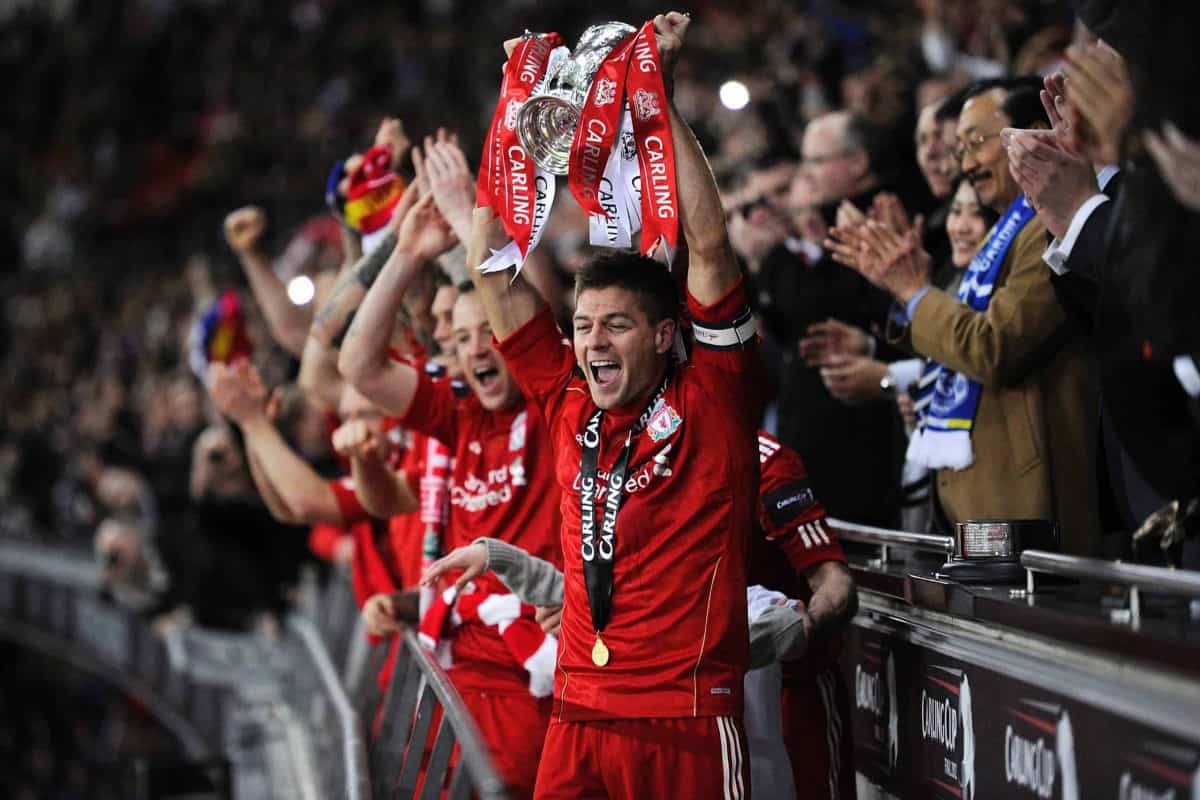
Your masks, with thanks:
<instances>
[{"instance_id":1,"label":"leftmost bare raised arm with clenched fist, in front of blurred crowd","mask_svg":"<svg viewBox=\"0 0 1200 800\"><path fill-rule=\"evenodd\" d=\"M258 206L238 209L224 219L226 241L246 273L271 337L284 350L299 357L312 321L312 311L308 306L296 306L288 300L287 288L280 276L275 275L271 259L262 247L265 230L266 213Z\"/></svg>"}]
</instances>

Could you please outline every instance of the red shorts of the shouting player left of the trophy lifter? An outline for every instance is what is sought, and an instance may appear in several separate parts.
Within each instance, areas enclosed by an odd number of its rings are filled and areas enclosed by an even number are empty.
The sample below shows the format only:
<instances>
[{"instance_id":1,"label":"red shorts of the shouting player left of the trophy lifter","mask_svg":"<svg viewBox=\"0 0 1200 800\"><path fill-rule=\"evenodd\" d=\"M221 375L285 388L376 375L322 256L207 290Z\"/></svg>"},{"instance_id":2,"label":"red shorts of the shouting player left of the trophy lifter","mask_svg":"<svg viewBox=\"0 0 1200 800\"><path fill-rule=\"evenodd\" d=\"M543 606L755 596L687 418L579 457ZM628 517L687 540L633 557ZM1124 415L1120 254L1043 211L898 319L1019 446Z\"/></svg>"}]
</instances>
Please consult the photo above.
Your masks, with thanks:
<instances>
[{"instance_id":1,"label":"red shorts of the shouting player left of the trophy lifter","mask_svg":"<svg viewBox=\"0 0 1200 800\"><path fill-rule=\"evenodd\" d=\"M458 694L484 735L509 798L532 798L553 698L462 690Z\"/></svg>"}]
</instances>

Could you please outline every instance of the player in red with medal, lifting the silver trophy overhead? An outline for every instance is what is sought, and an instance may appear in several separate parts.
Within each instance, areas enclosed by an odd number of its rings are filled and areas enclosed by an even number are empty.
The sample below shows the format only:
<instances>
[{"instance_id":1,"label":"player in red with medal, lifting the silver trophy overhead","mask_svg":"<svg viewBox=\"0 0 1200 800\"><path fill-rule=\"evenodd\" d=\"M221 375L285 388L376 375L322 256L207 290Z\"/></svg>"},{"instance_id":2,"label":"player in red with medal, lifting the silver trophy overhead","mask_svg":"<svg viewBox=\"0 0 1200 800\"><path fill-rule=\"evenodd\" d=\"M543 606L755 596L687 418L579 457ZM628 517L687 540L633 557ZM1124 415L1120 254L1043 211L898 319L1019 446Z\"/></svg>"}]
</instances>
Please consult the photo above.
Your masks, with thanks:
<instances>
[{"instance_id":1,"label":"player in red with medal, lifting the silver trophy overhead","mask_svg":"<svg viewBox=\"0 0 1200 800\"><path fill-rule=\"evenodd\" d=\"M678 13L655 20L667 73L686 25ZM749 794L744 551L761 363L712 173L673 108L670 122L700 342L689 363L673 366L678 290L656 261L622 255L578 273L574 355L523 277L474 276L504 360L550 422L563 493L565 597L539 798ZM433 148L426 170L457 229L474 194L461 151ZM491 216L474 213L468 264L506 241Z\"/></svg>"}]
</instances>

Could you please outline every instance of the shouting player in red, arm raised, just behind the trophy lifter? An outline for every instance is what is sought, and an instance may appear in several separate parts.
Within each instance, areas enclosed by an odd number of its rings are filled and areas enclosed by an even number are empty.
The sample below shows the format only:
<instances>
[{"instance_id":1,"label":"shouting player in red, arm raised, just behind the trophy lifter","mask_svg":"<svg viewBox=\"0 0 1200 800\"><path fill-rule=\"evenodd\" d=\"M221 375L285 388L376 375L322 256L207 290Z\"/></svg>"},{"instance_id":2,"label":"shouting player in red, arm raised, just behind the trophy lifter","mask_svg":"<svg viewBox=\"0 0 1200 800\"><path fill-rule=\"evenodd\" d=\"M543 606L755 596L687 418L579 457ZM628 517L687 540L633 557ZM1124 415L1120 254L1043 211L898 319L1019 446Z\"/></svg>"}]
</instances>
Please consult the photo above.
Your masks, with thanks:
<instances>
[{"instance_id":1,"label":"shouting player in red, arm raised, just behind the trophy lifter","mask_svg":"<svg viewBox=\"0 0 1200 800\"><path fill-rule=\"evenodd\" d=\"M486 534L560 564L558 488L546 425L492 347L491 326L476 293L461 291L454 307L455 353L470 387L467 396L457 396L448 381L433 381L388 357L388 324L406 288L426 261L452 243L432 198L404 213L396 248L342 343L338 368L402 425L450 449L449 546ZM482 576L475 584L481 593L509 594L493 576ZM528 626L532 608L527 616ZM480 604L480 614L464 619L454 633L449 674L510 792L529 796L541 734L550 720L550 697L532 693L530 672L515 658L500 630L485 621ZM548 674L552 639L546 654Z\"/></svg>"}]
</instances>

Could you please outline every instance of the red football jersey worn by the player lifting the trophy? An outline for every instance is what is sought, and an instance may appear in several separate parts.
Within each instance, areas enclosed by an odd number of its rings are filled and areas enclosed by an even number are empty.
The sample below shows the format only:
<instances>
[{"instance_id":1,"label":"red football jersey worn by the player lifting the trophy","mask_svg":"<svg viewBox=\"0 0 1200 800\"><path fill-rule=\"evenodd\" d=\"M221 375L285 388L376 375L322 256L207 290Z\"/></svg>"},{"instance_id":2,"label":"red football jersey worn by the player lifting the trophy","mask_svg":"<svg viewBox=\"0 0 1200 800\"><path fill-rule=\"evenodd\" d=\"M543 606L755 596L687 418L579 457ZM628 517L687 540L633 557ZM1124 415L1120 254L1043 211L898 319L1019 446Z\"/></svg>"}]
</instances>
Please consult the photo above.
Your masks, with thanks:
<instances>
[{"instance_id":1,"label":"red football jersey worn by the player lifting the trophy","mask_svg":"<svg viewBox=\"0 0 1200 800\"><path fill-rule=\"evenodd\" d=\"M734 330L728 320L742 314L737 329L746 335L740 283L713 306L689 297L689 307L695 320L728 333ZM697 344L634 439L616 525L612 615L602 633L611 661L604 667L592 661L595 631L578 491L581 432L596 407L548 309L499 347L550 420L563 491L565 600L556 718L740 717L749 642L745 542L757 506L754 432L763 386L752 332L745 344ZM642 411L604 415L598 507L625 433Z\"/></svg>"}]
</instances>

